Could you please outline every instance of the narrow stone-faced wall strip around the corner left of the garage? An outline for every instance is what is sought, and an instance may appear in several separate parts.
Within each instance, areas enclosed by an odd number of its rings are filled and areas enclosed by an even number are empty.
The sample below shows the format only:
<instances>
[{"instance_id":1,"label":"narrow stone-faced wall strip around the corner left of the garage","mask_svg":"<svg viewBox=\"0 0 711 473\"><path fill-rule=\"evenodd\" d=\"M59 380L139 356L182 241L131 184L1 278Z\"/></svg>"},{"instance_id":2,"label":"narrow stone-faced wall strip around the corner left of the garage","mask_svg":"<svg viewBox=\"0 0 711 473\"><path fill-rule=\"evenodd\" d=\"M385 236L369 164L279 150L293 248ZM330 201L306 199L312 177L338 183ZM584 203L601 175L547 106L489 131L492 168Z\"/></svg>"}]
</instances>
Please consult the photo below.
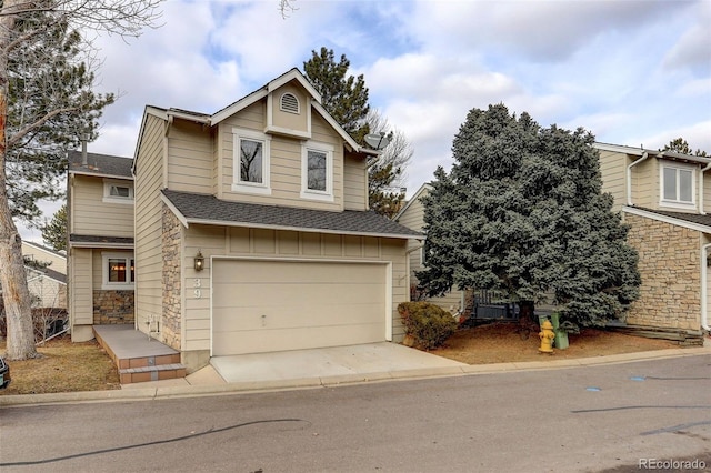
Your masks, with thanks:
<instances>
[{"instance_id":1,"label":"narrow stone-faced wall strip around the corner left of the garage","mask_svg":"<svg viewBox=\"0 0 711 473\"><path fill-rule=\"evenodd\" d=\"M167 345L180 350L180 252L181 228L180 221L163 205L162 210L163 256L163 314L161 320L161 341Z\"/></svg>"}]
</instances>

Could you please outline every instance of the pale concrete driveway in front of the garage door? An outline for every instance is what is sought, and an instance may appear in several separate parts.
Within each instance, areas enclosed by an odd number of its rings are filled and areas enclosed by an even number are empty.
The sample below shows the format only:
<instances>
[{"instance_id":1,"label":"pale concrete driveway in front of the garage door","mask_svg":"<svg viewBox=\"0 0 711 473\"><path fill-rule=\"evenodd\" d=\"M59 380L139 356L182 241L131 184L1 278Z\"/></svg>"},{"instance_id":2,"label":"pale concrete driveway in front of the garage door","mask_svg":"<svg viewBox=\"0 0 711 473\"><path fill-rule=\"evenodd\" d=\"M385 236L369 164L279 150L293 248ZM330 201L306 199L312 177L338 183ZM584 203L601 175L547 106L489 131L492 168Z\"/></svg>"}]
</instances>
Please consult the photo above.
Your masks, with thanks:
<instances>
[{"instance_id":1,"label":"pale concrete driveway in front of the garage door","mask_svg":"<svg viewBox=\"0 0 711 473\"><path fill-rule=\"evenodd\" d=\"M465 366L458 361L390 342L213 356L210 363L228 383L334 376L373 379L387 378L393 372Z\"/></svg>"}]
</instances>

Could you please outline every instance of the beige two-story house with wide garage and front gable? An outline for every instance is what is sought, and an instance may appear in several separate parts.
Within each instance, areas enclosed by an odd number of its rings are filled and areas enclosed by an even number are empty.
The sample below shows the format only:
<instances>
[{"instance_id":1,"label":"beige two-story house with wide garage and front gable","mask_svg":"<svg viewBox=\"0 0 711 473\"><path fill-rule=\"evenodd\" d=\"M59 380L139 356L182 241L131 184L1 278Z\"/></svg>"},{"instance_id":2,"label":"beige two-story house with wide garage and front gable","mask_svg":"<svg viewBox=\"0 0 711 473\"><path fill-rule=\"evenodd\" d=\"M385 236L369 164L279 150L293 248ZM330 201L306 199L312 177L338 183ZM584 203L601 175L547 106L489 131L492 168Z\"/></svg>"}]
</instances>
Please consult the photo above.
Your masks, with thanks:
<instances>
[{"instance_id":1,"label":"beige two-story house with wide garage and front gable","mask_svg":"<svg viewBox=\"0 0 711 473\"><path fill-rule=\"evenodd\" d=\"M122 322L179 350L189 371L211 356L401 340L407 245L421 235L368 210L374 153L297 69L213 114L147 107L134 180L129 167L102 172L108 158L88 169L92 154L70 168L72 322L82 333L114 322L97 293L118 278L116 298L134 294ZM127 205L102 200L111 183Z\"/></svg>"}]
</instances>

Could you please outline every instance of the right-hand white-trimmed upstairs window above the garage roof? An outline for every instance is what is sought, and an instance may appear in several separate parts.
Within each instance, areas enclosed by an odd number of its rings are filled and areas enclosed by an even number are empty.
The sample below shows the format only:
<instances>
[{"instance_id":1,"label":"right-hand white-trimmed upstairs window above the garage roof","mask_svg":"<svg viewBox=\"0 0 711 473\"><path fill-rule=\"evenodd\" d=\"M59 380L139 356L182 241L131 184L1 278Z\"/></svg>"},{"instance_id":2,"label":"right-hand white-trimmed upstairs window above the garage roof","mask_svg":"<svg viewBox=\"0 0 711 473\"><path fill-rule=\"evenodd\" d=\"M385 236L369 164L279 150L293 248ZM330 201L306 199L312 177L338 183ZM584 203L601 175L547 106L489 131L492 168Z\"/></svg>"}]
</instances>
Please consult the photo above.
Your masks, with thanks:
<instances>
[{"instance_id":1,"label":"right-hand white-trimmed upstairs window above the garage roof","mask_svg":"<svg viewBox=\"0 0 711 473\"><path fill-rule=\"evenodd\" d=\"M311 141L302 145L301 198L333 201L333 147Z\"/></svg>"}]
</instances>

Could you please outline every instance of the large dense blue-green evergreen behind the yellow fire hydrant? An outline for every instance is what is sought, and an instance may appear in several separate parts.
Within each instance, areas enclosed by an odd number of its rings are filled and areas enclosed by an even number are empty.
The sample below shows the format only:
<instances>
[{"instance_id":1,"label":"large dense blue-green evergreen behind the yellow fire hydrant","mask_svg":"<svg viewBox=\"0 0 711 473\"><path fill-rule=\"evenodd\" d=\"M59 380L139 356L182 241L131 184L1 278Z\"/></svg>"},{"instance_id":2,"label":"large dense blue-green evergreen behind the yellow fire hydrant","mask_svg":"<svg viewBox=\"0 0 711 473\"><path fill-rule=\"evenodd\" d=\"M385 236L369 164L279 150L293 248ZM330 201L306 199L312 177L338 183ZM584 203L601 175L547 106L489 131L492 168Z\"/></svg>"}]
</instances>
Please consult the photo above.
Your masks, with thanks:
<instances>
[{"instance_id":1,"label":"large dense blue-green evergreen behind the yellow fire hydrant","mask_svg":"<svg viewBox=\"0 0 711 473\"><path fill-rule=\"evenodd\" d=\"M471 110L424 200L425 290L504 291L523 318L550 294L578 326L621 318L639 296L637 252L601 193L593 141L502 104Z\"/></svg>"}]
</instances>

